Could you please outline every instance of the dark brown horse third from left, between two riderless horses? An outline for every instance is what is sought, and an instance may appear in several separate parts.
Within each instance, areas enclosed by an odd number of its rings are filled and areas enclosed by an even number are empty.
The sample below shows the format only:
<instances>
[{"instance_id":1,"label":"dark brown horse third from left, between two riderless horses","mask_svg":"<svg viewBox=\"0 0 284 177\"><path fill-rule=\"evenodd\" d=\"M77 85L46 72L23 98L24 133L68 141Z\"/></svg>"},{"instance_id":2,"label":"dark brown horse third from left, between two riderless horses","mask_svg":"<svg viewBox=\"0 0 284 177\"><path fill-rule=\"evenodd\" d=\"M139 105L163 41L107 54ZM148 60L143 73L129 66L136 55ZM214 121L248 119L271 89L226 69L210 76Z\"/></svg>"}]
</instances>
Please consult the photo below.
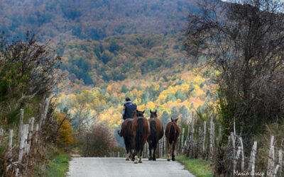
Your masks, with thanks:
<instances>
[{"instance_id":1,"label":"dark brown horse third from left, between two riderless horses","mask_svg":"<svg viewBox=\"0 0 284 177\"><path fill-rule=\"evenodd\" d=\"M149 144L149 161L153 159L155 161L155 149L157 148L157 144L159 139L161 139L164 135L164 127L160 119L157 116L157 110L152 112L150 110L150 119L148 119L150 124L151 134L148 137L147 141ZM153 157L152 157L152 149L153 149Z\"/></svg>"}]
</instances>

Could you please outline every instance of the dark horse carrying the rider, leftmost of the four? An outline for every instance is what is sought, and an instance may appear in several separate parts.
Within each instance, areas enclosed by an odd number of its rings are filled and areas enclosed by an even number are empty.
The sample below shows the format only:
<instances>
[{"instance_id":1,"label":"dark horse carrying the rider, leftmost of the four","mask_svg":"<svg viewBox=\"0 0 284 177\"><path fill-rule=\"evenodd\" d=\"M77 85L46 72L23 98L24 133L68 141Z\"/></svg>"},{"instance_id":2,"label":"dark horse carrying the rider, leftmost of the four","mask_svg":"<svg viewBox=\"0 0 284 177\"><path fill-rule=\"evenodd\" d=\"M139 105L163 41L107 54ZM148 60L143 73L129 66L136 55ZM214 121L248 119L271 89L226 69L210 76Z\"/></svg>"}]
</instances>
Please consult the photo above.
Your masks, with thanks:
<instances>
[{"instance_id":1,"label":"dark horse carrying the rider, leftmost of the four","mask_svg":"<svg viewBox=\"0 0 284 177\"><path fill-rule=\"evenodd\" d=\"M124 144L125 144L125 149L126 149L126 161L129 161L129 157L131 157L132 154L132 149L133 149L133 140L131 137L131 124L132 124L133 119L126 119L122 123L121 126L121 131L122 131L122 136L124 137Z\"/></svg>"}]
</instances>

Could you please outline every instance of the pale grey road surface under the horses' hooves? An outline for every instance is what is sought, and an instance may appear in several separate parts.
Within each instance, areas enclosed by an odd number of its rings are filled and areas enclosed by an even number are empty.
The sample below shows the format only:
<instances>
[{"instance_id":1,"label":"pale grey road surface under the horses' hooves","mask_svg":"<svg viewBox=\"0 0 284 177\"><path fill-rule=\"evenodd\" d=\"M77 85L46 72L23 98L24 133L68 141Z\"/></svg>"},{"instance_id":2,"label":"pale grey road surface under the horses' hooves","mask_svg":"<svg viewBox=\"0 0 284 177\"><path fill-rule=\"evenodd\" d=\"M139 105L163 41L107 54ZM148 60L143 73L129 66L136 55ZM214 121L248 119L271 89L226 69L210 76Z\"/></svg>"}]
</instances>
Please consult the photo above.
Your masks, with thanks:
<instances>
[{"instance_id":1,"label":"pale grey road surface under the horses' hooves","mask_svg":"<svg viewBox=\"0 0 284 177\"><path fill-rule=\"evenodd\" d=\"M77 157L70 161L69 170L67 176L72 177L194 176L185 170L182 164L177 161L167 161L166 159L157 159L157 161L143 159L142 164L133 164L133 161L126 161L124 158Z\"/></svg>"}]
</instances>

